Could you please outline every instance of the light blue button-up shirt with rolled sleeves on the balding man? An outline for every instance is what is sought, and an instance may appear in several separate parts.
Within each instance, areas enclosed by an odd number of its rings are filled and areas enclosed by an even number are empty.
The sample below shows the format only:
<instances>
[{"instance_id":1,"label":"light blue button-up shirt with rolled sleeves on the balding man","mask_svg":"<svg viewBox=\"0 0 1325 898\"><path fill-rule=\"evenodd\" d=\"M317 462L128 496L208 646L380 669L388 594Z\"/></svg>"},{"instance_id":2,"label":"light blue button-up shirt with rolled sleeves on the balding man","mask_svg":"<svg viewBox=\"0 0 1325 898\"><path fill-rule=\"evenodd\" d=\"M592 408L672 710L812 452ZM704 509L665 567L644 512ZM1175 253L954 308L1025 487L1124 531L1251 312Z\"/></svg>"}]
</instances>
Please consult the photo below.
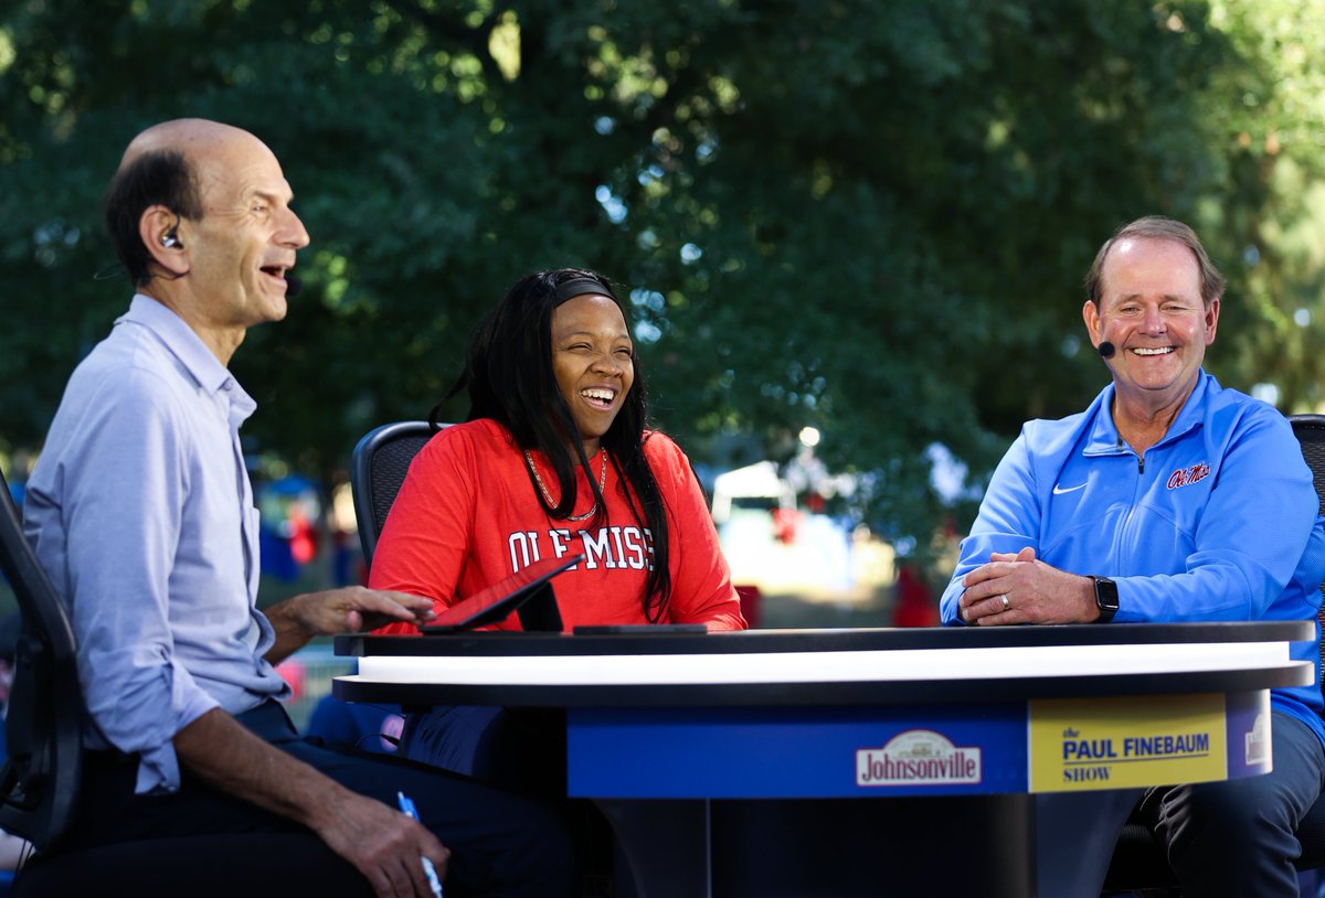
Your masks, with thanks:
<instances>
[{"instance_id":1,"label":"light blue button-up shirt with rolled sleeves on the balding man","mask_svg":"<svg viewBox=\"0 0 1325 898\"><path fill-rule=\"evenodd\" d=\"M90 748L179 787L171 739L213 707L284 698L262 654L258 513L240 449L256 404L201 339L134 297L74 371L28 479L28 539L78 640Z\"/></svg>"}]
</instances>

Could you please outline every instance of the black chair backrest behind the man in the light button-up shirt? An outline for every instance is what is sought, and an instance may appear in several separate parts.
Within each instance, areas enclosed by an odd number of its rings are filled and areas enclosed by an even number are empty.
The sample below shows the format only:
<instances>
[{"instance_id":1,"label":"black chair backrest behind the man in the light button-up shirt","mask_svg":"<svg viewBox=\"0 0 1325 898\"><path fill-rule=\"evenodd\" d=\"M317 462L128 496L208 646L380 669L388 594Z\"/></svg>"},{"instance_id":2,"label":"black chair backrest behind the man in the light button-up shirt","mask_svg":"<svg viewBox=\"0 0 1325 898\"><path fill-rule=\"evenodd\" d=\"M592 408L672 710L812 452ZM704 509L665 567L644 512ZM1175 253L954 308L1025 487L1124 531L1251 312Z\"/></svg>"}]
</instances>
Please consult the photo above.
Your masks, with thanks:
<instances>
[{"instance_id":1,"label":"black chair backrest behind the man in the light button-up shirt","mask_svg":"<svg viewBox=\"0 0 1325 898\"><path fill-rule=\"evenodd\" d=\"M69 616L24 536L3 475L0 494L0 568L23 616L5 718L0 829L49 850L69 823L82 779L78 658Z\"/></svg>"}]
</instances>

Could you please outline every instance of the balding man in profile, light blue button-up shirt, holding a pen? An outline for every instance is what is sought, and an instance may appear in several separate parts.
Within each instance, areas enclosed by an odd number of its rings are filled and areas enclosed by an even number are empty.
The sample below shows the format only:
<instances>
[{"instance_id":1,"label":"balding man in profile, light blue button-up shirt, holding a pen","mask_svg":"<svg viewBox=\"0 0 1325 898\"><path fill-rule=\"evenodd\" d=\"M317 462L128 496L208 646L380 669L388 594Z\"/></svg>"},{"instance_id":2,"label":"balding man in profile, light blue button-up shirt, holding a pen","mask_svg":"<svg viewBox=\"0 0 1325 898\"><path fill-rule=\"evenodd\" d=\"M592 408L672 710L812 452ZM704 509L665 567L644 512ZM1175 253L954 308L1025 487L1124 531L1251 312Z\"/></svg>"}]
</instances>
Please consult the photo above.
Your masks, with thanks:
<instances>
[{"instance_id":1,"label":"balding man in profile, light blue button-up shirt, holding a pen","mask_svg":"<svg viewBox=\"0 0 1325 898\"><path fill-rule=\"evenodd\" d=\"M135 138L107 193L136 295L74 371L25 506L87 710L68 841L303 826L382 895L432 894L420 856L465 894L568 894L568 840L541 808L306 743L277 701L289 689L272 665L309 638L432 616L428 599L360 587L257 611L238 438L256 405L227 364L248 327L286 314L309 242L292 199L262 142L199 119Z\"/></svg>"}]
</instances>

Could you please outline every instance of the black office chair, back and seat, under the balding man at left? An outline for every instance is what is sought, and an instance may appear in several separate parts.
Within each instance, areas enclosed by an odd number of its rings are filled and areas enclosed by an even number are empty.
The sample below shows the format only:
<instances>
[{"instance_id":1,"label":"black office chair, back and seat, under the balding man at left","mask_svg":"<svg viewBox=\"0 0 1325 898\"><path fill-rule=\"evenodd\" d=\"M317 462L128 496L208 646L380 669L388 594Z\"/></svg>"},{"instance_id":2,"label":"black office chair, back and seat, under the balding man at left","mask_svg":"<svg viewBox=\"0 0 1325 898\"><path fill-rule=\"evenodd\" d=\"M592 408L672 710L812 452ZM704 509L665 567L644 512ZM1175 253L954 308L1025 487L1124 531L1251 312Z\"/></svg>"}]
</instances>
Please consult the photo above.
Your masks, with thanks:
<instances>
[{"instance_id":1,"label":"black office chair, back and seat, under the balding man at left","mask_svg":"<svg viewBox=\"0 0 1325 898\"><path fill-rule=\"evenodd\" d=\"M0 475L0 570L19 601L0 770L0 828L32 842L12 898L60 895L371 895L368 881L313 833L225 833L62 852L82 781L82 690L64 604L28 544Z\"/></svg>"}]
</instances>

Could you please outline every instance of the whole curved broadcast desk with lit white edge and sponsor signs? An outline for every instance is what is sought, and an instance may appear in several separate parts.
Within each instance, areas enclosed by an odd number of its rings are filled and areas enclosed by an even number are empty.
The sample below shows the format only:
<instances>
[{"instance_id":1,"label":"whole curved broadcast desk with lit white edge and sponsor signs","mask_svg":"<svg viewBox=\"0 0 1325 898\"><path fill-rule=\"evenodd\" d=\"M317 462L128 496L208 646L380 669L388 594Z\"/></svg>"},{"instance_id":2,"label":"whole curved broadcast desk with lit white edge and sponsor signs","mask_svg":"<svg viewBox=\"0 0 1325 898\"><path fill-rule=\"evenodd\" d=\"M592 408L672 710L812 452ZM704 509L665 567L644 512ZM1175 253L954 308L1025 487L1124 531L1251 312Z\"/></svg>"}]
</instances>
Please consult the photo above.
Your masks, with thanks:
<instances>
[{"instance_id":1,"label":"whole curved broadcast desk with lit white edge and sponsor signs","mask_svg":"<svg viewBox=\"0 0 1325 898\"><path fill-rule=\"evenodd\" d=\"M1269 770L1310 623L338 637L338 698L566 709L641 898L1035 894L1031 795ZM865 799L864 801L861 799ZM886 800L880 800L886 799ZM1055 841L1056 840L1056 841Z\"/></svg>"}]
</instances>

